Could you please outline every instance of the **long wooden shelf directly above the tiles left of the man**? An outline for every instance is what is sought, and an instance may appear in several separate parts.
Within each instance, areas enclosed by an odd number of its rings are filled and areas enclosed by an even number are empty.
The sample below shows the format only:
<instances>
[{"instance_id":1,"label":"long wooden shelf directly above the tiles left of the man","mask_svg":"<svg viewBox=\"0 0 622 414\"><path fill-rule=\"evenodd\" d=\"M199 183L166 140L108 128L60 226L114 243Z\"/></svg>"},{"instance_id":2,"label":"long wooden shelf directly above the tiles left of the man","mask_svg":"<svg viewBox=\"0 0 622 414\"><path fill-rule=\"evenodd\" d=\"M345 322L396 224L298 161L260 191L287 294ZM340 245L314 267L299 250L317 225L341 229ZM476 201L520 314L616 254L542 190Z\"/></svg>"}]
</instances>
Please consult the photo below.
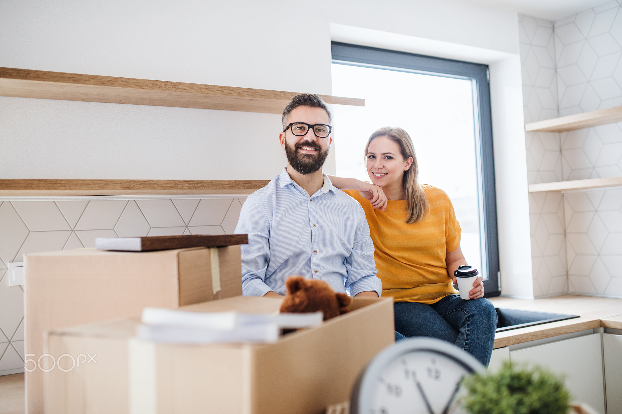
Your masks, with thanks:
<instances>
[{"instance_id":1,"label":"long wooden shelf directly above the tiles left of the man","mask_svg":"<svg viewBox=\"0 0 622 414\"><path fill-rule=\"evenodd\" d=\"M251 194L268 180L0 179L0 197Z\"/></svg>"}]
</instances>

